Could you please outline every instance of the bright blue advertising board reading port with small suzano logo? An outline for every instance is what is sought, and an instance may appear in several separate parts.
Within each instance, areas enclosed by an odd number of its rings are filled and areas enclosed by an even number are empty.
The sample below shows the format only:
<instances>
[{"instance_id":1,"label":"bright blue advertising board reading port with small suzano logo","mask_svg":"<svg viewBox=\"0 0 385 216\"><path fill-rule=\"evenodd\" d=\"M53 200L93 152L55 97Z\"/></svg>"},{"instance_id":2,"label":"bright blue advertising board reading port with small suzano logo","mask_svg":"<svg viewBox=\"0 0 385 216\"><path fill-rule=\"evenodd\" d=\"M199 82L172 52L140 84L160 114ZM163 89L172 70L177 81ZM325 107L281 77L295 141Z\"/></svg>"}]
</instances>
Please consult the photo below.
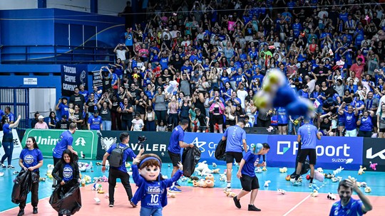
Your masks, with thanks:
<instances>
[{"instance_id":1,"label":"bright blue advertising board reading port with small suzano logo","mask_svg":"<svg viewBox=\"0 0 385 216\"><path fill-rule=\"evenodd\" d=\"M267 143L271 147L267 154L269 166L294 167L298 151L297 136L271 135ZM322 136L321 140L317 140L316 167L336 169L342 166L358 170L362 165L362 148L362 137ZM347 162L348 159L352 159L352 162Z\"/></svg>"}]
</instances>

